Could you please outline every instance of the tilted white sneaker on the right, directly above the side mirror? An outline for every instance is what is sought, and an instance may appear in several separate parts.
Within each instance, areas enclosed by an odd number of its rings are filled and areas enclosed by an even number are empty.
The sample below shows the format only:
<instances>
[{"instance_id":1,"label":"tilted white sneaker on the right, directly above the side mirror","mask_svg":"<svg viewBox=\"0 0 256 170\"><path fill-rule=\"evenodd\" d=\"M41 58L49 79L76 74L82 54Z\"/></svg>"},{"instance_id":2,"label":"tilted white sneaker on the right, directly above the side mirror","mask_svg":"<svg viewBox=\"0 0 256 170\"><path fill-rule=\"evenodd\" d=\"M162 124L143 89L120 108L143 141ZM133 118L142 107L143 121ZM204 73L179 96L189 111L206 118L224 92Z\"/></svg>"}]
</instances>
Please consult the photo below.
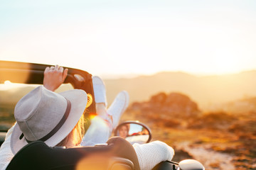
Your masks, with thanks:
<instances>
[{"instance_id":1,"label":"tilted white sneaker on the right, directly above the side mirror","mask_svg":"<svg viewBox=\"0 0 256 170\"><path fill-rule=\"evenodd\" d=\"M110 108L108 108L107 113L112 116L112 130L114 130L119 120L124 113L124 111L127 109L129 105L129 94L127 91L121 91L117 96L114 98L113 103L111 104Z\"/></svg>"}]
</instances>

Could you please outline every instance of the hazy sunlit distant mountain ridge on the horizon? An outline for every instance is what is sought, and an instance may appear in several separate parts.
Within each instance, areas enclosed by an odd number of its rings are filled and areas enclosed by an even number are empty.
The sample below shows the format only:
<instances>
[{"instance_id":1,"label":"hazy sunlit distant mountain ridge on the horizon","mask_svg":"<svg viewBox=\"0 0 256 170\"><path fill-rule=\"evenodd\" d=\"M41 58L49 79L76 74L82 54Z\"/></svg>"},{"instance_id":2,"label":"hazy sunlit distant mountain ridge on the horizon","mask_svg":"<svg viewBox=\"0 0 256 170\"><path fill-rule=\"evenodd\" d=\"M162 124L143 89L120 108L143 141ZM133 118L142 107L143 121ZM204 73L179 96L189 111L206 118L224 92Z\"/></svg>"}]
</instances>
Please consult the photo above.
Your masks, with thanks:
<instances>
[{"instance_id":1,"label":"hazy sunlit distant mountain ridge on the horizon","mask_svg":"<svg viewBox=\"0 0 256 170\"><path fill-rule=\"evenodd\" d=\"M159 72L133 79L104 81L109 103L122 90L129 92L130 103L147 101L159 92L179 92L196 101L199 108L256 96L256 71L206 77L196 77L183 72Z\"/></svg>"}]
</instances>

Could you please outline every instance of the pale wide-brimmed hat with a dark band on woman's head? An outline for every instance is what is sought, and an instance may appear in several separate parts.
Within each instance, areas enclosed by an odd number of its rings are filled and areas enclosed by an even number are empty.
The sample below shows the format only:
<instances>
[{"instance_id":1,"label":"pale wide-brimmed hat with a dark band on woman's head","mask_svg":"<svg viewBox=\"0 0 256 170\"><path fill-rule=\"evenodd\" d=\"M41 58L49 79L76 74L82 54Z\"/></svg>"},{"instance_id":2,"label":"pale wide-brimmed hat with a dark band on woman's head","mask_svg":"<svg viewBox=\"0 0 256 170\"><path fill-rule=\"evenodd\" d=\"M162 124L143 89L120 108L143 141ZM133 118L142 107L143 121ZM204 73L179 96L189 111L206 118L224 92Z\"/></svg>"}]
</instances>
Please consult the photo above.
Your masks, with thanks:
<instances>
[{"instance_id":1,"label":"pale wide-brimmed hat with a dark band on woman's head","mask_svg":"<svg viewBox=\"0 0 256 170\"><path fill-rule=\"evenodd\" d=\"M28 142L43 139L54 147L73 130L85 111L87 94L73 89L57 94L38 86L15 106L16 125L11 134L11 151L16 154Z\"/></svg>"}]
</instances>

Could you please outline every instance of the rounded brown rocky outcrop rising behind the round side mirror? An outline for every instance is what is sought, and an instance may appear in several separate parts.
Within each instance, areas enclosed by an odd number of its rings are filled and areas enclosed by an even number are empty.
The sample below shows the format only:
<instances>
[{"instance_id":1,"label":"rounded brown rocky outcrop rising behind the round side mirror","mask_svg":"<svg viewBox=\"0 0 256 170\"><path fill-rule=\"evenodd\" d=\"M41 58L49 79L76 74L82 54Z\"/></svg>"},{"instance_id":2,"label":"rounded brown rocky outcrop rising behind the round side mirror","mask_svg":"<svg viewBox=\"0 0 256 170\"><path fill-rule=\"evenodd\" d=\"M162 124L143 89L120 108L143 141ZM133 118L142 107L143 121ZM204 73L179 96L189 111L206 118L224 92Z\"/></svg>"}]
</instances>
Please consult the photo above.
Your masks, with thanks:
<instances>
[{"instance_id":1,"label":"rounded brown rocky outcrop rising behind the round side mirror","mask_svg":"<svg viewBox=\"0 0 256 170\"><path fill-rule=\"evenodd\" d=\"M183 127L187 120L201 115L196 102L180 93L163 92L151 96L149 101L135 102L127 109L124 118L141 120L149 125ZM186 121L184 121L186 120Z\"/></svg>"}]
</instances>

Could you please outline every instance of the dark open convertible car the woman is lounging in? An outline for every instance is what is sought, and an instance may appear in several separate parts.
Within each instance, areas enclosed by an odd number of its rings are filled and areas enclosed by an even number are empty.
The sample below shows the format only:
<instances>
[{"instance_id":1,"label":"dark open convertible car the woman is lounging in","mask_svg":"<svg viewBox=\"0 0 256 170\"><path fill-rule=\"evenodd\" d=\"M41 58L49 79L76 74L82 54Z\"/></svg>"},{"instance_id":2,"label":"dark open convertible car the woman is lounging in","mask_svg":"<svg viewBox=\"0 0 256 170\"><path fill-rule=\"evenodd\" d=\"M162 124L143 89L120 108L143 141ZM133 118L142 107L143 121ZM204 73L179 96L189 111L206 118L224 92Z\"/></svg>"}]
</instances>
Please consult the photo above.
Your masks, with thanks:
<instances>
[{"instance_id":1,"label":"dark open convertible car the woman is lounging in","mask_svg":"<svg viewBox=\"0 0 256 170\"><path fill-rule=\"evenodd\" d=\"M0 61L0 146L4 142L7 130L15 123L14 108L16 103L29 91L43 84L43 72L46 67L52 65L35 64L25 62ZM68 77L56 92L69 89L82 89L92 96L92 104L85 113L87 124L90 126L90 115L95 115L95 100L92 86L92 74L80 69L68 68ZM102 169L102 170L139 170L137 154L131 143L146 143L151 140L151 131L146 125L138 122L121 123L114 132L128 125L131 132L124 140L113 137L107 145L95 145L95 147L80 147L61 149L48 147L44 142L31 142L23 147L11 160L9 169ZM120 129L119 129L120 128ZM144 131L146 129L146 131ZM95 153L98 153L95 159ZM94 153L94 154L90 154ZM105 156L102 156L105 155ZM164 169L204 169L201 163L194 160L185 162L161 162L153 170Z\"/></svg>"}]
</instances>

